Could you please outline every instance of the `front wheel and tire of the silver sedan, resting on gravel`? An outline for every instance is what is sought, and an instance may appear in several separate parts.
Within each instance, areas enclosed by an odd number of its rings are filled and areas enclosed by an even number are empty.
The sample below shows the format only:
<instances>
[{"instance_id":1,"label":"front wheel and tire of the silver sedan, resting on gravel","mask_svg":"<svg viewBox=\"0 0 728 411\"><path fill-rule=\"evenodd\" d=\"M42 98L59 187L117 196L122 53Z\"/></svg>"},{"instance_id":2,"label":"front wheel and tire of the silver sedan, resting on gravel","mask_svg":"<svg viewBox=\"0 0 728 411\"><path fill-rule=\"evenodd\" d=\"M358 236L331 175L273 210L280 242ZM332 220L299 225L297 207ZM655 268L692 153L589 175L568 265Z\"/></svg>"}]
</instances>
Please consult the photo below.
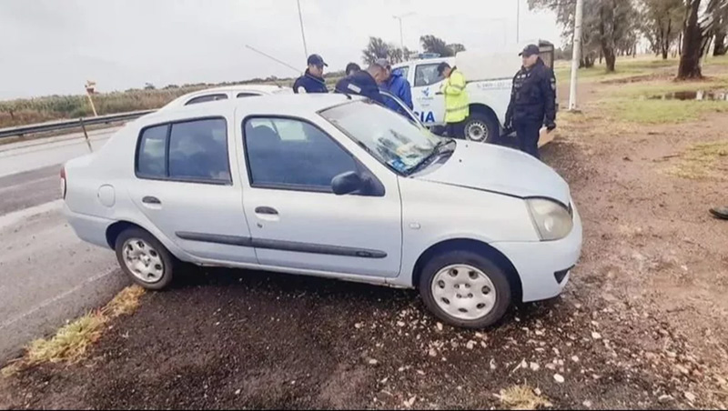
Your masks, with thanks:
<instances>
[{"instance_id":1,"label":"front wheel and tire of the silver sedan, resting on gravel","mask_svg":"<svg viewBox=\"0 0 728 411\"><path fill-rule=\"evenodd\" d=\"M511 285L505 272L471 251L450 251L431 258L422 269L419 286L425 306L450 326L492 326L511 306Z\"/></svg>"}]
</instances>

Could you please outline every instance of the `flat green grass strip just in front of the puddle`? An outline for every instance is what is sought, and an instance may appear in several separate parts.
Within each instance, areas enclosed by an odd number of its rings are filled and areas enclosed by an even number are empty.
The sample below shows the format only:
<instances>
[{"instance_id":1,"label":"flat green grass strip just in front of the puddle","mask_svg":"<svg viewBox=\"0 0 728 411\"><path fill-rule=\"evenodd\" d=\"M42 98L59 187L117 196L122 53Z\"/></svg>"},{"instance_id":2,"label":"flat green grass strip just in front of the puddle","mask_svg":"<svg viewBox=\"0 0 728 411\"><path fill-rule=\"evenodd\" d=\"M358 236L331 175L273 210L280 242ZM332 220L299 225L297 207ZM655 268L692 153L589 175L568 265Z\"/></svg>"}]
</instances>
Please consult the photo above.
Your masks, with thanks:
<instances>
[{"instance_id":1,"label":"flat green grass strip just in front of the puddle","mask_svg":"<svg viewBox=\"0 0 728 411\"><path fill-rule=\"evenodd\" d=\"M728 113L724 101L610 99L603 101L602 107L616 120L642 125L678 124L711 113Z\"/></svg>"}]
</instances>

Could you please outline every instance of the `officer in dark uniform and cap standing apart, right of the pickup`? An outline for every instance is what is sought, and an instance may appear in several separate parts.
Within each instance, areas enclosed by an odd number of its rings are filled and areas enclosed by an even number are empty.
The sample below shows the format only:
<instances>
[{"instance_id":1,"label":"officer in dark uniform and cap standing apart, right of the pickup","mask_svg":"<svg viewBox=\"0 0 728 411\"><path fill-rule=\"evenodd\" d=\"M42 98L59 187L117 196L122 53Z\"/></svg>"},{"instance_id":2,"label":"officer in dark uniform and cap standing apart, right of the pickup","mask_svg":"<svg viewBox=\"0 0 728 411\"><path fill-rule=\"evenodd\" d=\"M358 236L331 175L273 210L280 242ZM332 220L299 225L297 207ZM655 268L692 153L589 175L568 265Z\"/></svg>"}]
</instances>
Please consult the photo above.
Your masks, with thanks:
<instances>
[{"instance_id":1,"label":"officer in dark uniform and cap standing apart, right of the pickup","mask_svg":"<svg viewBox=\"0 0 728 411\"><path fill-rule=\"evenodd\" d=\"M521 151L541 158L541 126L556 128L556 77L541 60L538 45L527 45L521 52L523 66L513 77L511 103L506 112L506 129L516 130Z\"/></svg>"}]
</instances>

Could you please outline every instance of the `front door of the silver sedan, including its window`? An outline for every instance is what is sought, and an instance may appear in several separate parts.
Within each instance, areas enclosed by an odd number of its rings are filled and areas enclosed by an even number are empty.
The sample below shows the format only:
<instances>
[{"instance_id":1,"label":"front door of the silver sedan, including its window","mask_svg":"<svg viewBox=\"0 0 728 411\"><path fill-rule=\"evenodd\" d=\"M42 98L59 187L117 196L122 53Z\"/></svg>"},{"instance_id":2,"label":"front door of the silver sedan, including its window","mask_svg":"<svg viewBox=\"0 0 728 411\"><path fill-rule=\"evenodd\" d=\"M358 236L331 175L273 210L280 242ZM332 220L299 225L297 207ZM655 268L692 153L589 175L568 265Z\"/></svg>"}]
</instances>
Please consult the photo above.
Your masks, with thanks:
<instances>
[{"instance_id":1,"label":"front door of the silver sedan, including its window","mask_svg":"<svg viewBox=\"0 0 728 411\"><path fill-rule=\"evenodd\" d=\"M318 125L288 117L242 124L243 206L264 266L359 276L399 275L401 206L395 175L378 195L335 195L336 175L366 169Z\"/></svg>"}]
</instances>

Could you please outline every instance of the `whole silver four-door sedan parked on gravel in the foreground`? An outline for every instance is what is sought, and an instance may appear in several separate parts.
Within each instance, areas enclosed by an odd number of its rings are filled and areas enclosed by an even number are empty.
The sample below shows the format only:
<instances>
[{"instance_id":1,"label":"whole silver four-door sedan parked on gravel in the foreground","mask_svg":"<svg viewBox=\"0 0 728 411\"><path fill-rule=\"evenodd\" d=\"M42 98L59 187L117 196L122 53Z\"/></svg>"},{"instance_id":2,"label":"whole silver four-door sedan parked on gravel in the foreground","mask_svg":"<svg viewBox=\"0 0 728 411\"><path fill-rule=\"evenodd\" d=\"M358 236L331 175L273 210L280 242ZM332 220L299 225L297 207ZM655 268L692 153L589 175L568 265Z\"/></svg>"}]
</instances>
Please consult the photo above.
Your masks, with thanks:
<instances>
[{"instance_id":1,"label":"whole silver four-door sedan parked on gravel in the foreground","mask_svg":"<svg viewBox=\"0 0 728 411\"><path fill-rule=\"evenodd\" d=\"M417 288L455 326L558 296L581 252L569 186L519 151L442 139L362 97L161 110L66 163L76 234L162 289L180 263Z\"/></svg>"}]
</instances>

